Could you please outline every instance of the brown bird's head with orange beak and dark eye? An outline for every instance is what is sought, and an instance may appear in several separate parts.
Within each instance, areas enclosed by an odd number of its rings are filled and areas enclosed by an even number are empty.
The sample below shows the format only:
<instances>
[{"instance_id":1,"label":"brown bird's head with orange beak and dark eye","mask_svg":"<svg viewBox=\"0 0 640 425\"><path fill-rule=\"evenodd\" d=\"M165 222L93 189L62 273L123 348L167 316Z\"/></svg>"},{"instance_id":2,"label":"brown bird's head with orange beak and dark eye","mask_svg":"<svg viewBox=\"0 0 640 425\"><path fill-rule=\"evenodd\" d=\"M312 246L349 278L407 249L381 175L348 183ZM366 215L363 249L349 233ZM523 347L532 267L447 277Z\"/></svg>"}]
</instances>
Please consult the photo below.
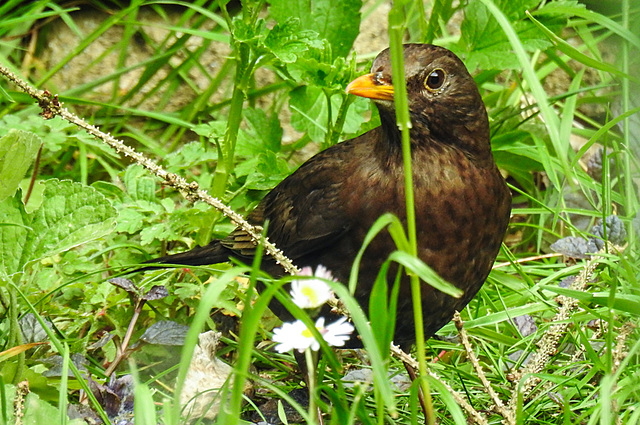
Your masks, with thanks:
<instances>
[{"instance_id":1,"label":"brown bird's head with orange beak and dark eye","mask_svg":"<svg viewBox=\"0 0 640 425\"><path fill-rule=\"evenodd\" d=\"M473 155L488 152L487 112L462 61L443 47L406 44L404 66L412 132L423 133L413 139L450 144ZM389 49L376 57L370 74L356 78L346 90L374 100L382 125L396 131Z\"/></svg>"}]
</instances>

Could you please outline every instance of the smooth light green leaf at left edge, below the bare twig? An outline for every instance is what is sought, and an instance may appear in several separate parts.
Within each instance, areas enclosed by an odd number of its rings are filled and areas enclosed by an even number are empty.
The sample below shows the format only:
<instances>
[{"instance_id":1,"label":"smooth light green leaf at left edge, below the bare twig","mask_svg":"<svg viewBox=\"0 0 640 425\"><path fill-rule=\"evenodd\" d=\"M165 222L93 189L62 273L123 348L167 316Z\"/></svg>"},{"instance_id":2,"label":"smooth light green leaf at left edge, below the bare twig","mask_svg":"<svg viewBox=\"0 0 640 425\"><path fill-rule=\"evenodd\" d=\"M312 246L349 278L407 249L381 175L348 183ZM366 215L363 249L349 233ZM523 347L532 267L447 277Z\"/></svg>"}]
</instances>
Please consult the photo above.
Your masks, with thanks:
<instances>
[{"instance_id":1,"label":"smooth light green leaf at left edge, below the bare twig","mask_svg":"<svg viewBox=\"0 0 640 425\"><path fill-rule=\"evenodd\" d=\"M0 200L18 189L41 144L42 139L23 130L10 130L0 138Z\"/></svg>"}]
</instances>

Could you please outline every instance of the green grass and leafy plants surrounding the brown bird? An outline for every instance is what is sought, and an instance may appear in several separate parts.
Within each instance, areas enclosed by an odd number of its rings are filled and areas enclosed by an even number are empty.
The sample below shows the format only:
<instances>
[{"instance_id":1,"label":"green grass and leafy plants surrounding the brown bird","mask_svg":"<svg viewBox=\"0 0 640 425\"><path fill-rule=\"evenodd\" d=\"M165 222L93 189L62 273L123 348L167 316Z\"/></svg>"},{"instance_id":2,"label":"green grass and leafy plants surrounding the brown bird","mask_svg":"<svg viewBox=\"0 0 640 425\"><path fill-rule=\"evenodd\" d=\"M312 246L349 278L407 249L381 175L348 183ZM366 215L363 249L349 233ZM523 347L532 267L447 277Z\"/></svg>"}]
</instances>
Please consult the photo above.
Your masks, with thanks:
<instances>
[{"instance_id":1,"label":"green grass and leafy plants surrounding the brown bird","mask_svg":"<svg viewBox=\"0 0 640 425\"><path fill-rule=\"evenodd\" d=\"M348 53L360 5L339 3L341 12L326 17L276 1L228 9L203 1L91 2L103 18L86 26L76 6L10 1L0 6L0 64L244 215L312 152L376 125L369 102L347 98L344 87L378 52ZM439 0L425 10L421 2L396 2L390 19L391 40L404 35L443 45L469 66L489 111L495 158L514 193L497 266L461 312L478 364L509 412L492 408L495 400L469 353L448 338L425 342L427 368L438 378L428 379L433 408L439 423L473 421L455 392L486 423L505 416L518 424L640 423L640 340L629 325L640 312L634 127L640 10L629 0L616 10L538 3L455 6ZM371 14L380 4L367 3L362 11ZM294 11L298 21L288 19ZM319 20L318 33L312 29ZM62 27L79 36L64 53L49 44ZM114 32L116 41L84 59L83 72L72 77L74 60ZM130 61L138 51L144 59ZM57 56L45 62L51 52ZM296 404L287 395L300 386L293 357L263 343L278 323L266 306L271 297L283 297L282 281L271 282L257 265L230 265L133 275L139 292L109 283L126 266L226 235L234 227L229 219L161 186L74 125L43 120L33 101L5 79L0 88L0 146L14 155L0 180L15 182L0 187L0 423L14 422L14 401L30 406L25 423L78 423L64 412L79 403L106 418L112 412L90 395L86 377L106 385L105 371L116 359L117 376L132 374L138 383L136 422L183 423L176 394L188 385L198 334L226 329L221 323L229 318L234 324L218 355L235 374L221 395L228 410L217 422L240 423L265 399ZM588 164L599 146L606 160L596 170ZM62 219L52 220L49 212L58 210ZM547 255L558 239L589 237L591 226L612 214L627 231L622 249L593 259ZM398 238L411 241L411 232ZM411 243L403 249L411 253ZM240 274L247 279L234 279ZM559 285L575 277L584 285ZM258 296L253 288L261 280L268 290ZM144 297L154 285L166 287L168 296L132 301L131 294ZM402 369L380 342L388 329L368 323L347 287L334 289L363 336L369 364L323 345L315 401L327 422L421 422L415 397L398 393L386 377L387 370ZM520 316L535 326L516 325ZM190 326L184 345L140 342L166 320ZM557 340L546 341L548 355L541 356L541 341L554 332ZM457 333L450 323L439 335ZM112 338L97 344L105 336ZM48 344L29 345L40 341ZM53 367L43 361L55 355L71 372L64 379L60 372L44 373ZM536 359L538 367L520 376ZM373 369L372 390L340 380L346 369L360 367ZM529 376L535 378L531 387L524 384ZM25 380L29 394L17 386ZM242 393L248 381L261 389L252 402ZM297 409L314 420L304 406Z\"/></svg>"}]
</instances>

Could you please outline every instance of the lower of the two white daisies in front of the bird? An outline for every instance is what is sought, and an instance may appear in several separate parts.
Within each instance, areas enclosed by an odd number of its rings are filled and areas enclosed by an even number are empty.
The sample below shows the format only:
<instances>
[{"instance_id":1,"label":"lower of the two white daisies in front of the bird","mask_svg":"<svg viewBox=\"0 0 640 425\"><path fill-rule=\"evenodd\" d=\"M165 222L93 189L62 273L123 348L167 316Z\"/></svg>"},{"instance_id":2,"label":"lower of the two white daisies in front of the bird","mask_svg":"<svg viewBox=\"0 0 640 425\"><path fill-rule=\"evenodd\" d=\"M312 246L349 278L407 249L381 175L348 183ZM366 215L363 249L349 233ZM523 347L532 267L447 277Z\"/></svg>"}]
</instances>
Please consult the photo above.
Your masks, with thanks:
<instances>
[{"instance_id":1,"label":"lower of the two white daisies in front of the bird","mask_svg":"<svg viewBox=\"0 0 640 425\"><path fill-rule=\"evenodd\" d=\"M353 332L353 325L347 323L347 318L342 317L328 326L324 326L324 317L316 321L316 329L331 346L342 347ZM314 351L320 349L320 343L301 320L291 323L283 323L282 327L273 330L273 341L277 342L276 351L284 353L290 350L304 352L307 348Z\"/></svg>"}]
</instances>

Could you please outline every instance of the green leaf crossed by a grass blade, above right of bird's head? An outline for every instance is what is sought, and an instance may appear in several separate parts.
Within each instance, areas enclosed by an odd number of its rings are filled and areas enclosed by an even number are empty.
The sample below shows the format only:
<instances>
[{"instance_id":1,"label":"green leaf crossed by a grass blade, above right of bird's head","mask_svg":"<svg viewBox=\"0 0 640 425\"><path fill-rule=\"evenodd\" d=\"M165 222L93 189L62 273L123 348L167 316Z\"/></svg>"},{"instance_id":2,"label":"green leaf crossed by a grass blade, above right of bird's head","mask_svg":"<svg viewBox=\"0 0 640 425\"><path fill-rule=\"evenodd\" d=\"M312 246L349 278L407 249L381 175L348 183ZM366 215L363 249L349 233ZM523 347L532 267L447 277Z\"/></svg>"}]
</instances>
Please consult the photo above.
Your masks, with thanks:
<instances>
[{"instance_id":1,"label":"green leaf crossed by a grass blade, above right of bird's head","mask_svg":"<svg viewBox=\"0 0 640 425\"><path fill-rule=\"evenodd\" d=\"M539 0L499 0L496 6L509 18L518 33L523 47L528 51L551 46L548 38L524 14L535 9ZM461 38L456 53L465 58L469 69L514 69L519 67L515 55L505 54L512 50L504 31L482 2L469 2L465 9L465 20L460 27ZM548 28L561 28L560 17L549 17L545 21ZM560 26L559 26L560 25Z\"/></svg>"}]
</instances>

